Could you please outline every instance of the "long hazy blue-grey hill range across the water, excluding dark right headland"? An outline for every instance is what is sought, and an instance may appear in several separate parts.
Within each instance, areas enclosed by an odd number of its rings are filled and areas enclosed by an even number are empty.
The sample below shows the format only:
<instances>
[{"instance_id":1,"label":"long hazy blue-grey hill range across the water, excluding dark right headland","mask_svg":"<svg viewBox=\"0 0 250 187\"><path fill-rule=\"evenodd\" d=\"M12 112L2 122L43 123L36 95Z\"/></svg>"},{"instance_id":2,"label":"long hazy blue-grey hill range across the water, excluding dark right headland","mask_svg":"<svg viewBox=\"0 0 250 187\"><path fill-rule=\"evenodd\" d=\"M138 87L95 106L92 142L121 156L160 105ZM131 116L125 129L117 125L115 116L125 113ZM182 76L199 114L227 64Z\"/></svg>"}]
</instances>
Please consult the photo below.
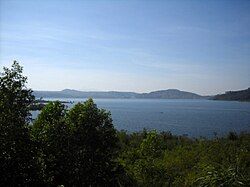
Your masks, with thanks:
<instances>
[{"instance_id":1,"label":"long hazy blue-grey hill range across the water, excluding dark right headland","mask_svg":"<svg viewBox=\"0 0 250 187\"><path fill-rule=\"evenodd\" d=\"M65 89L62 91L34 91L36 98L149 98L149 99L206 99L191 92L180 91L177 89L160 90L150 93L135 93L135 92L116 92L116 91L99 91L86 92Z\"/></svg>"}]
</instances>

